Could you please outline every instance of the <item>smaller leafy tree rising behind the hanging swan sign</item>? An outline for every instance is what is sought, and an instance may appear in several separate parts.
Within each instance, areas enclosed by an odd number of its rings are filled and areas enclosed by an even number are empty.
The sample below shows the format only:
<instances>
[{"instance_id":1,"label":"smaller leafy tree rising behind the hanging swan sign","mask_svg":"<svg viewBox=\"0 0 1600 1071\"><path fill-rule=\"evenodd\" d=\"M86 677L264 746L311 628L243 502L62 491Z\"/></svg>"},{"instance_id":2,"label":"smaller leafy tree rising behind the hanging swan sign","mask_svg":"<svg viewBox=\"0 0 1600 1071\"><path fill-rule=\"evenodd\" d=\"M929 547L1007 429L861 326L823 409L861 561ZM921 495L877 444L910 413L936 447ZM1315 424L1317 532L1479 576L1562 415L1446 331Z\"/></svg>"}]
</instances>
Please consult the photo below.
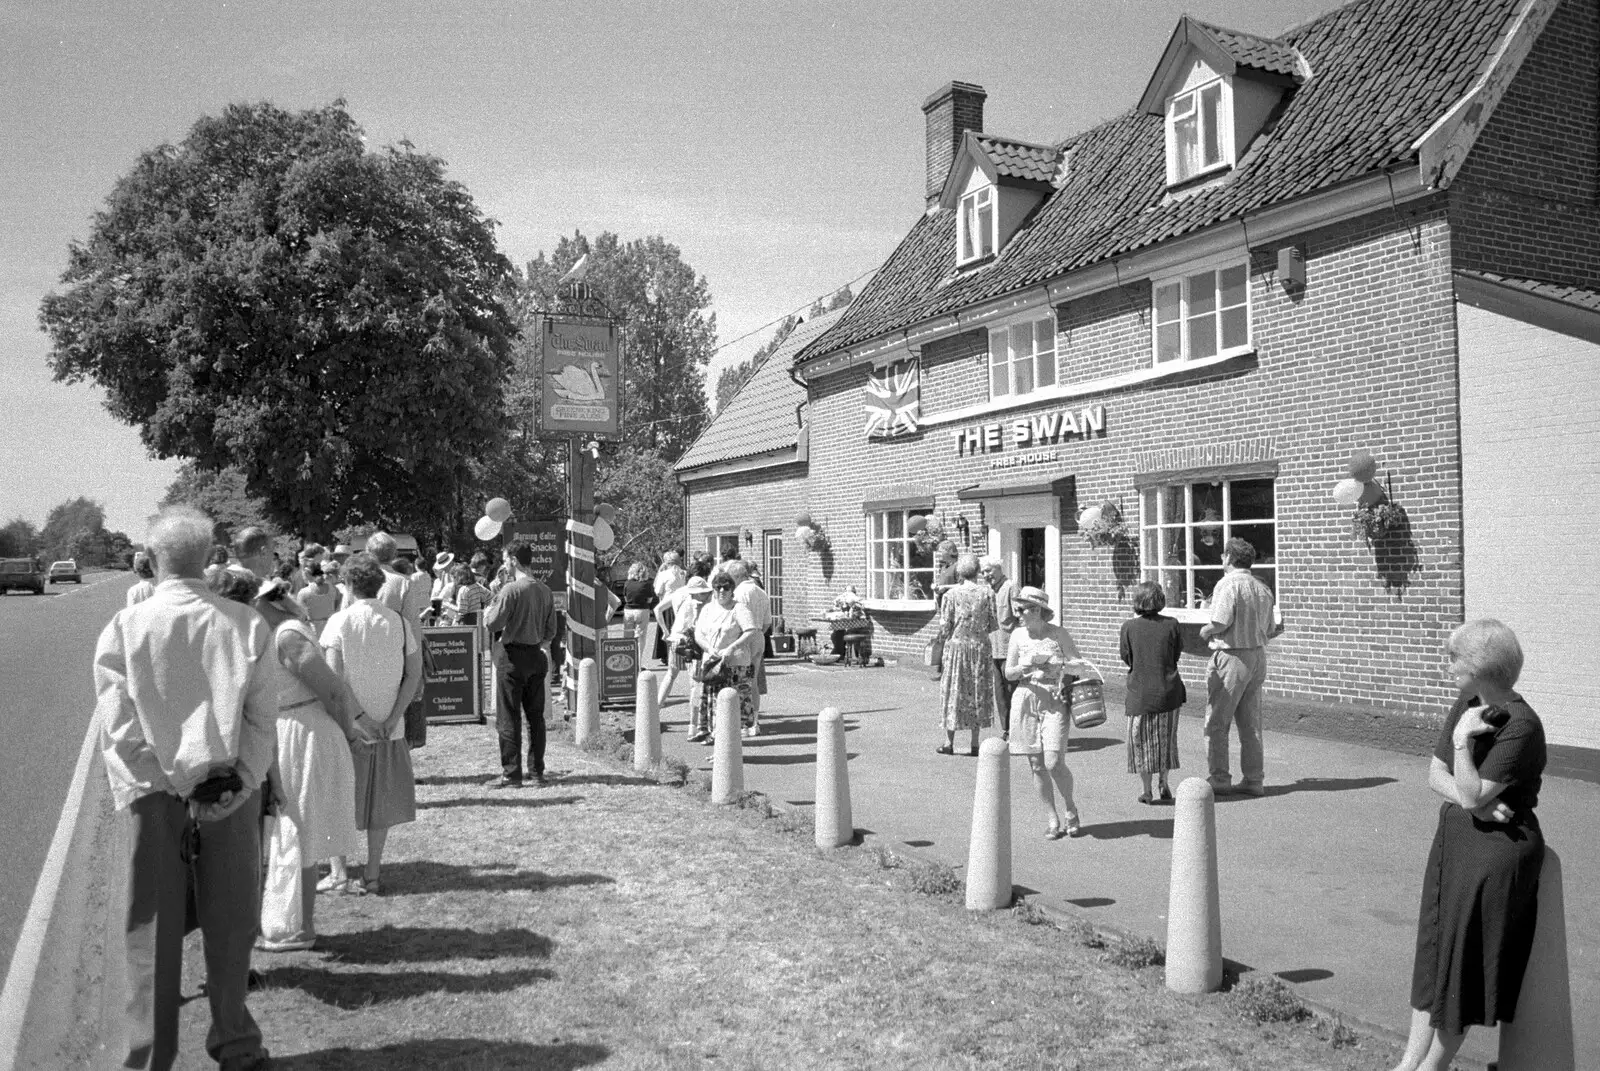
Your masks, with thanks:
<instances>
[{"instance_id":1,"label":"smaller leafy tree rising behind the hanging swan sign","mask_svg":"<svg viewBox=\"0 0 1600 1071\"><path fill-rule=\"evenodd\" d=\"M562 239L555 253L528 263L520 314L549 309L555 283L589 255L586 282L611 311L626 317L622 331L622 421L630 447L675 461L707 421L706 362L717 339L710 290L678 251L659 235L624 243L603 232Z\"/></svg>"}]
</instances>

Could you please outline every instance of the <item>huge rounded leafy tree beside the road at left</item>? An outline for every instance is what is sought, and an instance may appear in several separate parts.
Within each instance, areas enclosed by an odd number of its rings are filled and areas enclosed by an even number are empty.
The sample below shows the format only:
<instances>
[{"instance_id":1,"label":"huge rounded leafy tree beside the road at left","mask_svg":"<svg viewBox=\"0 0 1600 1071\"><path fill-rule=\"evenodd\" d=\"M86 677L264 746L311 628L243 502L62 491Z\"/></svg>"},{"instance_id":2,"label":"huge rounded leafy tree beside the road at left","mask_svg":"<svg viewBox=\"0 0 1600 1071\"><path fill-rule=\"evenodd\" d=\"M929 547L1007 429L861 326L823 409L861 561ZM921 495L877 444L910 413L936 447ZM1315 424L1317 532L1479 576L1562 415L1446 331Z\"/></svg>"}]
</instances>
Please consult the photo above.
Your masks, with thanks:
<instances>
[{"instance_id":1,"label":"huge rounded leafy tree beside the road at left","mask_svg":"<svg viewBox=\"0 0 1600 1071\"><path fill-rule=\"evenodd\" d=\"M445 163L344 102L230 106L139 157L48 295L56 379L280 527L448 512L502 434L510 266Z\"/></svg>"}]
</instances>

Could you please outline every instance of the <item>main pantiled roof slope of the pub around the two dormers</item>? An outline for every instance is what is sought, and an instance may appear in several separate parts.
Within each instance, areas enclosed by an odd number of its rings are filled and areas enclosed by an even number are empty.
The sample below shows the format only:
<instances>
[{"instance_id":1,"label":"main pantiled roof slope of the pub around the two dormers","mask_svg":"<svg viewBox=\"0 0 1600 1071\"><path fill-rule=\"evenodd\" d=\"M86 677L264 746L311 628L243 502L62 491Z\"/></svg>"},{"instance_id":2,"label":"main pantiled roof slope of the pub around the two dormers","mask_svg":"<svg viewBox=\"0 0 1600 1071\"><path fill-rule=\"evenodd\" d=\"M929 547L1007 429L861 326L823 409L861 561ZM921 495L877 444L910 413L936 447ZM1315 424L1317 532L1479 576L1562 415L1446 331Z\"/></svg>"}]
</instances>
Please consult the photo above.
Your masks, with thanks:
<instances>
[{"instance_id":1,"label":"main pantiled roof slope of the pub around the two dormers","mask_svg":"<svg viewBox=\"0 0 1600 1071\"><path fill-rule=\"evenodd\" d=\"M1224 183L1166 195L1160 115L1130 110L1067 139L1070 173L1000 255L955 271L955 213L920 218L805 359L1035 287L1203 227L1414 160L1477 78L1520 0L1362 0L1280 43L1315 75Z\"/></svg>"}]
</instances>

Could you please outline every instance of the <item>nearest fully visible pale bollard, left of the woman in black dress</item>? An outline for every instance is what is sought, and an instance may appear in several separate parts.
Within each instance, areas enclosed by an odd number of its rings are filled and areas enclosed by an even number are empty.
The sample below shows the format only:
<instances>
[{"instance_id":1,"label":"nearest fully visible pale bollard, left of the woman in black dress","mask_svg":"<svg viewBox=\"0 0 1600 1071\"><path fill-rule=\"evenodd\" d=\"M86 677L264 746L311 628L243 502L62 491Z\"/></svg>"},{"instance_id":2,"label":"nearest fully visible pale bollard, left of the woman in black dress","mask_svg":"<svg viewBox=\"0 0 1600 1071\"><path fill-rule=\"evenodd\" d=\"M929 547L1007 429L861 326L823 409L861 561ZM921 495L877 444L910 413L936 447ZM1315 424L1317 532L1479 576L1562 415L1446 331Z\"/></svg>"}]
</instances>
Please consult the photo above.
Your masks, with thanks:
<instances>
[{"instance_id":1,"label":"nearest fully visible pale bollard, left of the woman in black dress","mask_svg":"<svg viewBox=\"0 0 1600 1071\"><path fill-rule=\"evenodd\" d=\"M1166 988L1213 993L1222 985L1222 905L1216 882L1216 794L1203 778L1178 786L1173 876L1166 898Z\"/></svg>"}]
</instances>

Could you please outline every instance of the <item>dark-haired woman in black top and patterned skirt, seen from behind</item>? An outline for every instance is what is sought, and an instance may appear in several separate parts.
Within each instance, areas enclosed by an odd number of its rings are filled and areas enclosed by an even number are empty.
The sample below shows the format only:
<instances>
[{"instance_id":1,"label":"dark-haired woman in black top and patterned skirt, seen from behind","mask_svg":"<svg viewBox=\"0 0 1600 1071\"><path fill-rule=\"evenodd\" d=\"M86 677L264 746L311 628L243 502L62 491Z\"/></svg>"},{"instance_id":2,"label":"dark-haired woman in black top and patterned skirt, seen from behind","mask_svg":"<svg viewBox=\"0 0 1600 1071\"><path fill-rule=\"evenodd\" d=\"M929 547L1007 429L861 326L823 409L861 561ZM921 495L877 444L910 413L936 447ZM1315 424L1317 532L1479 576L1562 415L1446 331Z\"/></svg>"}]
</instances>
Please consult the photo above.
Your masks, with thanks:
<instances>
[{"instance_id":1,"label":"dark-haired woman in black top and patterned skirt, seen from behind","mask_svg":"<svg viewBox=\"0 0 1600 1071\"><path fill-rule=\"evenodd\" d=\"M1173 797L1166 772L1178 768L1178 708L1189 693L1178 676L1184 653L1182 626L1162 616L1166 596L1160 584L1133 586L1134 616L1122 623L1122 661L1128 666L1128 773L1138 773L1141 804L1154 802L1150 776L1160 778L1160 799Z\"/></svg>"}]
</instances>

